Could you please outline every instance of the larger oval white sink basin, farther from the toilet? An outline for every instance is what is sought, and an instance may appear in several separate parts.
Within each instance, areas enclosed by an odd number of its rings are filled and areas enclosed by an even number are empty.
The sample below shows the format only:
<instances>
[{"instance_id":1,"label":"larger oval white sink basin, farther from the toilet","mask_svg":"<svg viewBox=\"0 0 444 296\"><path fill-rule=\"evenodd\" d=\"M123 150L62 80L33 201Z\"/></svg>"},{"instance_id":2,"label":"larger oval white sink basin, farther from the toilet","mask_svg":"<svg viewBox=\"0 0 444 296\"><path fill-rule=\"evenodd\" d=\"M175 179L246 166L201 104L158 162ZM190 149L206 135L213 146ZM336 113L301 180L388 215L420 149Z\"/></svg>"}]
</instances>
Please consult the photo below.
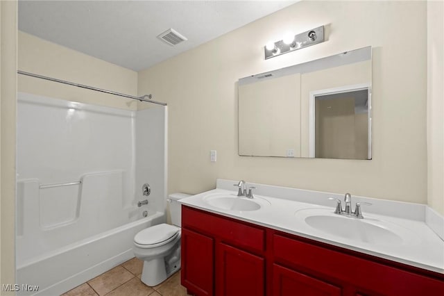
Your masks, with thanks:
<instances>
[{"instance_id":1,"label":"larger oval white sink basin, farther from the toilet","mask_svg":"<svg viewBox=\"0 0 444 296\"><path fill-rule=\"evenodd\" d=\"M330 208L307 208L295 215L313 229L366 244L404 245L417 241L413 232L398 224L373 217L345 217L332 212Z\"/></svg>"}]
</instances>

